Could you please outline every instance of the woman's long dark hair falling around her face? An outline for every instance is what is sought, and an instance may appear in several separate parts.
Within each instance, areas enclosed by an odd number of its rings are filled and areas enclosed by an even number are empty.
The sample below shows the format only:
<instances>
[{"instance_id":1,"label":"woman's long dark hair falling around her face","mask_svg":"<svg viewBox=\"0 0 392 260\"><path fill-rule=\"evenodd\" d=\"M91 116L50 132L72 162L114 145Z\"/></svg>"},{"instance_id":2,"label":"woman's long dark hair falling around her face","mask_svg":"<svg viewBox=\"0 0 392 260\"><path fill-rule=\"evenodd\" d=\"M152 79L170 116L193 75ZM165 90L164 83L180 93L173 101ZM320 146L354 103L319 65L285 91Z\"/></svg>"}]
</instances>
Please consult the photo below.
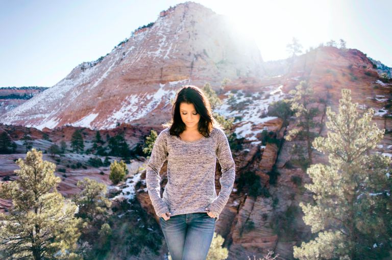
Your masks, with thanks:
<instances>
[{"instance_id":1,"label":"woman's long dark hair falling around her face","mask_svg":"<svg viewBox=\"0 0 392 260\"><path fill-rule=\"evenodd\" d=\"M211 136L213 127L221 128L220 124L212 116L211 104L203 91L194 85L184 85L176 95L176 101L173 104L171 121L164 124L165 127L170 127L170 135L180 137L180 134L186 129L184 122L181 119L180 104L182 102L193 104L196 112L200 114L198 124L199 133L205 137Z\"/></svg>"}]
</instances>

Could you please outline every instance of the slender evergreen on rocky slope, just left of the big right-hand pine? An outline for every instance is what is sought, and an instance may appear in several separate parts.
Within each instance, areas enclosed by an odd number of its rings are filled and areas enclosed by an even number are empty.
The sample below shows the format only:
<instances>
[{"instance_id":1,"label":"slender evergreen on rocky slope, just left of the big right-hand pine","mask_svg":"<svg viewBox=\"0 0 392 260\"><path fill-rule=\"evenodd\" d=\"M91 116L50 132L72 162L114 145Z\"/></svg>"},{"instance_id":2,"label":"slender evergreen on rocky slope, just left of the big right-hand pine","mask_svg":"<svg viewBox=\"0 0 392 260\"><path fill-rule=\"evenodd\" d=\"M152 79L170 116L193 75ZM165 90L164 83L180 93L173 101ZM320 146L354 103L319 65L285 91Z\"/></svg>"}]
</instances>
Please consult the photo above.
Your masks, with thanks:
<instances>
[{"instance_id":1,"label":"slender evergreen on rocky slope, just left of the big right-hand pine","mask_svg":"<svg viewBox=\"0 0 392 260\"><path fill-rule=\"evenodd\" d=\"M293 97L287 100L287 102L291 103L290 108L296 112L299 123L296 125L298 128L290 130L285 136L285 139L291 141L296 136L304 138L307 142L308 163L312 163L311 143L315 137L315 133L311 132L310 129L319 125L313 121L313 118L319 112L317 107L311 107L311 104L316 101L313 98L313 88L306 81L302 80L300 84L296 86L296 90L291 90L289 94ZM299 130L301 128L303 130Z\"/></svg>"}]
</instances>

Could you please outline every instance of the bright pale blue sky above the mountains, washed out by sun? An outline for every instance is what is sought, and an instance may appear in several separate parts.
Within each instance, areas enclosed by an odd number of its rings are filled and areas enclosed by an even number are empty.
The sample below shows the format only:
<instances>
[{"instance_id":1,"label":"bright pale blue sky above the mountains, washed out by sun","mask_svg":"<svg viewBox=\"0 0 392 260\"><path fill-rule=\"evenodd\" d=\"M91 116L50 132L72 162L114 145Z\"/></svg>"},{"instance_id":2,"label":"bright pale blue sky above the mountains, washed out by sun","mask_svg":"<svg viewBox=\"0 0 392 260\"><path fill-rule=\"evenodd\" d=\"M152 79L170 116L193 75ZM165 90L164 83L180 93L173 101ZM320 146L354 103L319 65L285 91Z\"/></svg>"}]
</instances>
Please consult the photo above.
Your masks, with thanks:
<instances>
[{"instance_id":1,"label":"bright pale blue sky above the mountains, washed out by sun","mask_svg":"<svg viewBox=\"0 0 392 260\"><path fill-rule=\"evenodd\" d=\"M0 0L0 86L53 86L82 62L105 56L175 0ZM264 61L288 57L296 37L317 47L344 39L392 67L392 1L195 0L253 37Z\"/></svg>"}]
</instances>

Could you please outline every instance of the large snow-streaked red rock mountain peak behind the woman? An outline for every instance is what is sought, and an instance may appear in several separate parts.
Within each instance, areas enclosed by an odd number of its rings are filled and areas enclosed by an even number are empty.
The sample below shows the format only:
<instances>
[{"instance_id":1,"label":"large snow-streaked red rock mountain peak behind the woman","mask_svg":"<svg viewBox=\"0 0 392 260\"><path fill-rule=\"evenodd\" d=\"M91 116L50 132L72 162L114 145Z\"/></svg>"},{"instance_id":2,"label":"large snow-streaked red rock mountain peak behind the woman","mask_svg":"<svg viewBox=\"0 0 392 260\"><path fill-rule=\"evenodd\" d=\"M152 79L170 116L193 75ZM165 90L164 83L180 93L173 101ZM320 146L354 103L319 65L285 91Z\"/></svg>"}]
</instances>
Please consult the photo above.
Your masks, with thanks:
<instances>
[{"instance_id":1,"label":"large snow-streaked red rock mountain peak behind the woman","mask_svg":"<svg viewBox=\"0 0 392 260\"><path fill-rule=\"evenodd\" d=\"M262 63L256 44L242 40L225 16L186 2L161 12L106 56L78 65L0 122L41 130L159 125L169 119L169 100L181 85L216 88L224 78L259 78Z\"/></svg>"}]
</instances>

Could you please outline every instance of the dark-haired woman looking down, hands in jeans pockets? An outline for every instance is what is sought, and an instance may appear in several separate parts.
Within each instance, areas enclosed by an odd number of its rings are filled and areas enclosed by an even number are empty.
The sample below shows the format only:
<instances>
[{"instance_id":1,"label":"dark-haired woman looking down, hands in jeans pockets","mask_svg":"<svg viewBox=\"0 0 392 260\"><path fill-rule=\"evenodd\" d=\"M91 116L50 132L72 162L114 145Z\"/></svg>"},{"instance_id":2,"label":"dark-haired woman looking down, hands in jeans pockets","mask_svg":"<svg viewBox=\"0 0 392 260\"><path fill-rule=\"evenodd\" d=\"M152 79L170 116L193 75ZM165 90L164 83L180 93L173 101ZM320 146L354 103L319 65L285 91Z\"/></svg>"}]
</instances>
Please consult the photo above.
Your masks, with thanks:
<instances>
[{"instance_id":1,"label":"dark-haired woman looking down, hands in jeans pockets","mask_svg":"<svg viewBox=\"0 0 392 260\"><path fill-rule=\"evenodd\" d=\"M227 204L235 163L225 132L196 86L177 94L171 123L154 143L146 166L146 186L173 260L206 259L215 222ZM216 158L222 166L215 192ZM167 184L160 196L160 169L167 159Z\"/></svg>"}]
</instances>

